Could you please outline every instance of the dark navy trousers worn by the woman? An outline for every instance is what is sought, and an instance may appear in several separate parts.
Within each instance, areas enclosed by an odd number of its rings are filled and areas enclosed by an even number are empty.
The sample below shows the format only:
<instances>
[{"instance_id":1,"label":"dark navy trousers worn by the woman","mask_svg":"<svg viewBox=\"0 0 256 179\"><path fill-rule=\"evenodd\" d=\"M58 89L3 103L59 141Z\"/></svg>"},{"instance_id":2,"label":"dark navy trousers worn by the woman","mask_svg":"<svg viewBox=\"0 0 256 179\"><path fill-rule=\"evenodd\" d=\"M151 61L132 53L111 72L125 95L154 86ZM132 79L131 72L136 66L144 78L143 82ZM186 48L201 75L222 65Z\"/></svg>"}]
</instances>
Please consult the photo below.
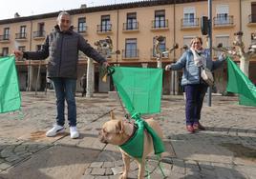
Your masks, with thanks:
<instances>
[{"instance_id":1,"label":"dark navy trousers worn by the woman","mask_svg":"<svg viewBox=\"0 0 256 179\"><path fill-rule=\"evenodd\" d=\"M203 98L207 91L204 84L186 85L184 86L186 104L185 117L186 125L198 123L201 118L201 110L203 107Z\"/></svg>"}]
</instances>

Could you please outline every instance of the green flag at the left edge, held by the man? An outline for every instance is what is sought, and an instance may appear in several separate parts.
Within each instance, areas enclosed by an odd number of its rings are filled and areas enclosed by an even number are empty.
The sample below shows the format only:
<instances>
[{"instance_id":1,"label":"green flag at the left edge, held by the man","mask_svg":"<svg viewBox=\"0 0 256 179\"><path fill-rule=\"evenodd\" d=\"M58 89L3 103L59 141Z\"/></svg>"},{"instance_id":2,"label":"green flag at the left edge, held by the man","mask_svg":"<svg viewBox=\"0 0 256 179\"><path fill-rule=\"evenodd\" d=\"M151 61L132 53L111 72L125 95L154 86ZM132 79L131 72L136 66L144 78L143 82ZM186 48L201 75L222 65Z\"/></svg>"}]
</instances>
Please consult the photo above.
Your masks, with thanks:
<instances>
[{"instance_id":1,"label":"green flag at the left edge, held by the man","mask_svg":"<svg viewBox=\"0 0 256 179\"><path fill-rule=\"evenodd\" d=\"M0 58L0 71L0 113L18 110L21 106L21 97L15 57Z\"/></svg>"}]
</instances>

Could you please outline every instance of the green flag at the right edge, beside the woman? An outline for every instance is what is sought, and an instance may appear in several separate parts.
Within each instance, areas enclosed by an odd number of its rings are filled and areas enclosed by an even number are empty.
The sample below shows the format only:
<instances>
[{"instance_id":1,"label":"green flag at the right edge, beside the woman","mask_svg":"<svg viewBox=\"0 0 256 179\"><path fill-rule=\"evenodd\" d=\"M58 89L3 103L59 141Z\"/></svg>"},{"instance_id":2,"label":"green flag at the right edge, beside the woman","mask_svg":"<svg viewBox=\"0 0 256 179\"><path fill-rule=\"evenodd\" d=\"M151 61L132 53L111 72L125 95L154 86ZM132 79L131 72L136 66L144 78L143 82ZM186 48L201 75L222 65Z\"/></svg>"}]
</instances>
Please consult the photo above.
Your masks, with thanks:
<instances>
[{"instance_id":1,"label":"green flag at the right edge, beside the woman","mask_svg":"<svg viewBox=\"0 0 256 179\"><path fill-rule=\"evenodd\" d=\"M228 83L226 91L239 93L239 104L256 107L256 87L237 65L227 57Z\"/></svg>"}]
</instances>

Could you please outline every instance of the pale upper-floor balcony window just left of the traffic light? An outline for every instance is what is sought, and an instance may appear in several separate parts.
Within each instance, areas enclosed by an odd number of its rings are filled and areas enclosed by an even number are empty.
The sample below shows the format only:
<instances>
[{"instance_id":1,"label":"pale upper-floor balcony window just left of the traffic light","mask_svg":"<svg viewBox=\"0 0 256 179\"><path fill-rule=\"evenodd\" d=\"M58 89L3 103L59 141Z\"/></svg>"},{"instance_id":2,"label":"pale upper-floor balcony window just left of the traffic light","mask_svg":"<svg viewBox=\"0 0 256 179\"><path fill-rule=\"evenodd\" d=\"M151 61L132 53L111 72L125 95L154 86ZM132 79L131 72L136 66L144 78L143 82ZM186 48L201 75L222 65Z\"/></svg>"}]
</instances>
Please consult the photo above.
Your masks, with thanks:
<instances>
[{"instance_id":1,"label":"pale upper-floor balcony window just left of the traffic light","mask_svg":"<svg viewBox=\"0 0 256 179\"><path fill-rule=\"evenodd\" d=\"M183 27L191 27L196 25L196 10L194 7L183 9Z\"/></svg>"}]
</instances>

